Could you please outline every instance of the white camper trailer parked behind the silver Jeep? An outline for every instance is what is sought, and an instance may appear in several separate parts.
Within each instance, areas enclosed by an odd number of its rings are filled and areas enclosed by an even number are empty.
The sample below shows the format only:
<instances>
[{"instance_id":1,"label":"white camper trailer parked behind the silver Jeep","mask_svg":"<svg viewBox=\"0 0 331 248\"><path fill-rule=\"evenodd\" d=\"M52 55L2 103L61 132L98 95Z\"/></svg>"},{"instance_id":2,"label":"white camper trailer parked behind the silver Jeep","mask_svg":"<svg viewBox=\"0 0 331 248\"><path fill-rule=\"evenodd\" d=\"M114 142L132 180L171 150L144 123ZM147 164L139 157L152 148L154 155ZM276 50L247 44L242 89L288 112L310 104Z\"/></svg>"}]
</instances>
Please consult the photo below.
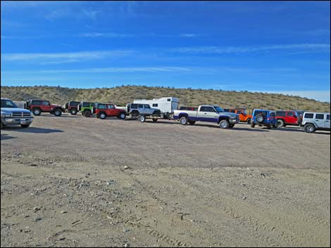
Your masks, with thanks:
<instances>
[{"instance_id":1,"label":"white camper trailer parked behind the silver Jeep","mask_svg":"<svg viewBox=\"0 0 331 248\"><path fill-rule=\"evenodd\" d=\"M145 103L153 108L158 108L161 110L161 118L166 119L170 119L173 110L178 108L178 98L174 97L154 98L153 100L135 99L133 103Z\"/></svg>"}]
</instances>

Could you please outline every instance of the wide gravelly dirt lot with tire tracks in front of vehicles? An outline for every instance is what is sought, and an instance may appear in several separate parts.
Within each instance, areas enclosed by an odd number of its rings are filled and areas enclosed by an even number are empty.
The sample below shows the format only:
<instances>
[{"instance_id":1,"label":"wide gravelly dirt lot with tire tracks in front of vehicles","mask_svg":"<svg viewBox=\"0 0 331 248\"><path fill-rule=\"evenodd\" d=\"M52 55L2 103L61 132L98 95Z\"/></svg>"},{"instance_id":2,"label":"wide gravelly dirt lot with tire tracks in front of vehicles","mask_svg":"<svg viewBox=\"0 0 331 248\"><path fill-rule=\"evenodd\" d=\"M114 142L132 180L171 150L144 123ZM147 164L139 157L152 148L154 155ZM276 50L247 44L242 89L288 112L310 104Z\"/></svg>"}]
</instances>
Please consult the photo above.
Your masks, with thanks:
<instances>
[{"instance_id":1,"label":"wide gravelly dirt lot with tire tracks in front of vehicles","mask_svg":"<svg viewBox=\"0 0 331 248\"><path fill-rule=\"evenodd\" d=\"M1 130L5 246L330 247L330 132L35 117Z\"/></svg>"}]
</instances>

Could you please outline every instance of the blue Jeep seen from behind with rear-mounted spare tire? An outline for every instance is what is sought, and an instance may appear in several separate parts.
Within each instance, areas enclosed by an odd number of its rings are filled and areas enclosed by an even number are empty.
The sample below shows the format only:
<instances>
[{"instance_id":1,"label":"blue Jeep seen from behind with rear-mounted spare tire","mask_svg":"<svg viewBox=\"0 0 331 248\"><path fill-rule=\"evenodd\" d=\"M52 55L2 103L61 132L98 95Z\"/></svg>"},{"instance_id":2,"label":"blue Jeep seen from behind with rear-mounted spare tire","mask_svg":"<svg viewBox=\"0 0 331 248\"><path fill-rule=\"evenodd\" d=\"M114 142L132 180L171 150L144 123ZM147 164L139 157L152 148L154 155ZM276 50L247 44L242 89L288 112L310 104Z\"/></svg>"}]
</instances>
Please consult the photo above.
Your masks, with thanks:
<instances>
[{"instance_id":1,"label":"blue Jeep seen from behind with rear-mounted spare tire","mask_svg":"<svg viewBox=\"0 0 331 248\"><path fill-rule=\"evenodd\" d=\"M253 117L251 119L251 127L255 125L267 126L268 129L277 128L278 122L273 110L253 110Z\"/></svg>"}]
</instances>

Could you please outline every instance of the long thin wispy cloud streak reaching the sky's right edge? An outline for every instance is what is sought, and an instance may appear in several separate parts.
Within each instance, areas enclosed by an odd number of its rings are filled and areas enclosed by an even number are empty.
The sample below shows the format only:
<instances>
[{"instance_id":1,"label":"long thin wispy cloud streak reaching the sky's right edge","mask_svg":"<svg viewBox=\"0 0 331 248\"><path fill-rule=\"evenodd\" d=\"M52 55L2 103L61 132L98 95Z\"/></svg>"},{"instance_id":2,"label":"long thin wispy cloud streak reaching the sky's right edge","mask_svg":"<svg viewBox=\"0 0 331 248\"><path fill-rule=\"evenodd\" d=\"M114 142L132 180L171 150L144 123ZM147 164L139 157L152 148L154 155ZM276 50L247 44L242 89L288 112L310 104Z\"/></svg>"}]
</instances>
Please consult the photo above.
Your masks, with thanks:
<instances>
[{"instance_id":1,"label":"long thin wispy cloud streak reaching the sky's right edge","mask_svg":"<svg viewBox=\"0 0 331 248\"><path fill-rule=\"evenodd\" d=\"M310 52L329 52L330 44L286 44L286 45L273 45L273 46L197 46L197 47L181 47L172 48L170 51L177 53L253 53L261 51L273 51L273 50L300 50Z\"/></svg>"}]
</instances>

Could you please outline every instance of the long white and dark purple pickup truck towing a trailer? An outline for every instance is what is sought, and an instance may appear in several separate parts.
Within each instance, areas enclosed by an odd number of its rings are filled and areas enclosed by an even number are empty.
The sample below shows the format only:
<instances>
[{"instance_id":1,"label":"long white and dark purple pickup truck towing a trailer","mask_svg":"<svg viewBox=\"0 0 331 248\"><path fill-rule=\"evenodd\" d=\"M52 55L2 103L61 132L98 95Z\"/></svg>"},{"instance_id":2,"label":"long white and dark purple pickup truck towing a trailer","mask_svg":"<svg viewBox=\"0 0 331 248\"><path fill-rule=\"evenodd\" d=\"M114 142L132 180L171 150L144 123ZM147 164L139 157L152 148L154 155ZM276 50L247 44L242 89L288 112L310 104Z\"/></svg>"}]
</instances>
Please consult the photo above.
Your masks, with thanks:
<instances>
[{"instance_id":1,"label":"long white and dark purple pickup truck towing a trailer","mask_svg":"<svg viewBox=\"0 0 331 248\"><path fill-rule=\"evenodd\" d=\"M195 109L193 107L193 109ZM174 119L179 119L180 124L193 125L195 122L215 122L221 129L233 128L239 123L239 115L225 112L216 105L201 105L197 110L174 110Z\"/></svg>"}]
</instances>

